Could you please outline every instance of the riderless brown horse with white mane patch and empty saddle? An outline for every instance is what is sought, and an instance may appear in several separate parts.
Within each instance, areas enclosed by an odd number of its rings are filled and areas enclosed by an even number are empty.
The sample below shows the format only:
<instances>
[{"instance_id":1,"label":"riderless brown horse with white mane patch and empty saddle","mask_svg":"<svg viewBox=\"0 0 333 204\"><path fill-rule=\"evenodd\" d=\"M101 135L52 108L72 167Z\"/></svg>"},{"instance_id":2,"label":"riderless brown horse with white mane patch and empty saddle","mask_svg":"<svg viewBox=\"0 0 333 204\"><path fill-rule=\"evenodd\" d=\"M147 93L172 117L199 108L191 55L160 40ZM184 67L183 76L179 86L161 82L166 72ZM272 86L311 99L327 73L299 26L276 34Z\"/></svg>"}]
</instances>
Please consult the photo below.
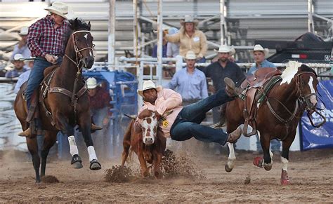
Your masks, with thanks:
<instances>
[{"instance_id":1,"label":"riderless brown horse with white mane patch and empty saddle","mask_svg":"<svg viewBox=\"0 0 333 204\"><path fill-rule=\"evenodd\" d=\"M263 148L263 158L254 159L254 165L270 170L273 165L273 153L270 151L270 140L282 141L281 161L283 163L281 184L289 184L287 165L289 148L296 135L296 127L305 110L309 114L316 111L318 79L315 71L298 62L289 62L289 66L280 76L273 88L266 93L259 104L256 114L256 130ZM240 98L228 102L226 109L227 132L233 132L244 123L244 101ZM318 111L317 111L318 112ZM325 118L324 118L325 121ZM244 127L245 128L245 127ZM233 170L235 153L233 145L228 143L230 154L226 171Z\"/></svg>"}]
</instances>

